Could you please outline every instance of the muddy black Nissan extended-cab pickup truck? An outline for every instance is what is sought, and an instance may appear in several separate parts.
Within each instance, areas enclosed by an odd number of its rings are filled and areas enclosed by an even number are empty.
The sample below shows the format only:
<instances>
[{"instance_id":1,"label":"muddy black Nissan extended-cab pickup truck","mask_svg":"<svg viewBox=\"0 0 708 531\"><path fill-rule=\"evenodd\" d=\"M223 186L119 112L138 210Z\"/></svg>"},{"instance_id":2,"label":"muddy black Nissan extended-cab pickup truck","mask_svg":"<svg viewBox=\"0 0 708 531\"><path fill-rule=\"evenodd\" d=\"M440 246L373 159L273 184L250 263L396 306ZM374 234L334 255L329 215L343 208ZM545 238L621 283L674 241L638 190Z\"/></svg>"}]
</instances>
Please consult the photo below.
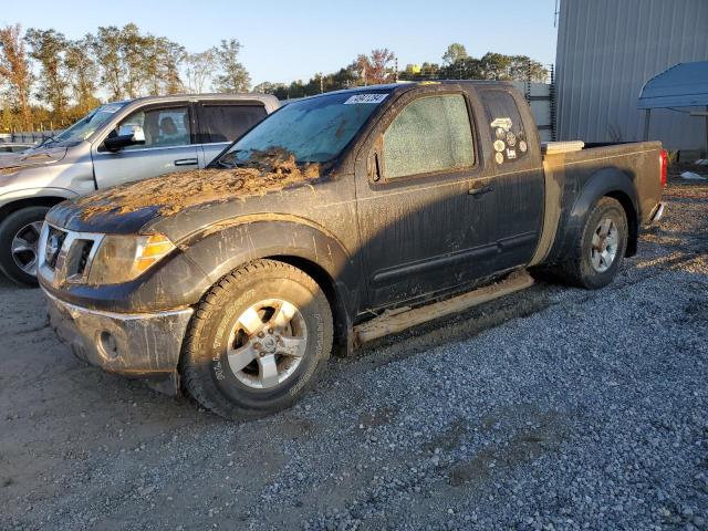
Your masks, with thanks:
<instances>
[{"instance_id":1,"label":"muddy black Nissan extended-cab pickup truck","mask_svg":"<svg viewBox=\"0 0 708 531\"><path fill-rule=\"evenodd\" d=\"M79 357L258 416L333 348L527 288L533 268L604 287L665 179L656 142L542 146L511 84L361 87L283 106L206 169L58 205L39 280Z\"/></svg>"}]
</instances>

